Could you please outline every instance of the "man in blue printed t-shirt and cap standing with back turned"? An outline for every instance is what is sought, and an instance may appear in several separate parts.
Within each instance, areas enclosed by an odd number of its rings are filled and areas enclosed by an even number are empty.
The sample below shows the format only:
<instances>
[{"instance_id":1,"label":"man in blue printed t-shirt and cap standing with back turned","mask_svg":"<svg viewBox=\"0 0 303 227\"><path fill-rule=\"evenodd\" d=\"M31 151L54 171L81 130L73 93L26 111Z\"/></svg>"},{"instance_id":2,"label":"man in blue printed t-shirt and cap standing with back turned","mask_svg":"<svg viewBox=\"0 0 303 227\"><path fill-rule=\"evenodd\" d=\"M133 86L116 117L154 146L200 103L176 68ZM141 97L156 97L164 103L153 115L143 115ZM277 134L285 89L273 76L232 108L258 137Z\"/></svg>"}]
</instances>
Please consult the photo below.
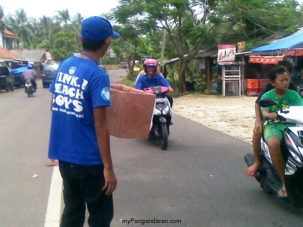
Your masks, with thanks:
<instances>
[{"instance_id":1,"label":"man in blue printed t-shirt and cap standing with back turned","mask_svg":"<svg viewBox=\"0 0 303 227\"><path fill-rule=\"evenodd\" d=\"M113 170L106 107L110 81L98 67L114 32L110 22L90 17L82 22L83 52L62 62L49 88L52 123L48 158L59 160L65 208L61 227L83 226L85 207L91 226L110 226L117 179Z\"/></svg>"}]
</instances>

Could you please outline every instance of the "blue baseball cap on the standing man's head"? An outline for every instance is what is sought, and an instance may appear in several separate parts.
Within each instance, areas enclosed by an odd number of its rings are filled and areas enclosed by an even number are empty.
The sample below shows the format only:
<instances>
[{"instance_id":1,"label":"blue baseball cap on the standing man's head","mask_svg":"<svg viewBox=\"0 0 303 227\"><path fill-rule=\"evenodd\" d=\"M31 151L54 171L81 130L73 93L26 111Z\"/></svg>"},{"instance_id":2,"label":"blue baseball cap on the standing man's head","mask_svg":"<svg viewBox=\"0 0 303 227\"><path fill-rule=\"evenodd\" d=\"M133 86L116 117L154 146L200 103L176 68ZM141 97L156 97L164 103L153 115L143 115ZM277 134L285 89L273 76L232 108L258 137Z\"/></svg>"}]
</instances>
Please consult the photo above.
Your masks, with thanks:
<instances>
[{"instance_id":1,"label":"blue baseball cap on the standing man's head","mask_svg":"<svg viewBox=\"0 0 303 227\"><path fill-rule=\"evenodd\" d=\"M94 16L83 20L81 36L84 40L101 41L110 36L120 36L120 34L113 31L113 27L107 19Z\"/></svg>"}]
</instances>

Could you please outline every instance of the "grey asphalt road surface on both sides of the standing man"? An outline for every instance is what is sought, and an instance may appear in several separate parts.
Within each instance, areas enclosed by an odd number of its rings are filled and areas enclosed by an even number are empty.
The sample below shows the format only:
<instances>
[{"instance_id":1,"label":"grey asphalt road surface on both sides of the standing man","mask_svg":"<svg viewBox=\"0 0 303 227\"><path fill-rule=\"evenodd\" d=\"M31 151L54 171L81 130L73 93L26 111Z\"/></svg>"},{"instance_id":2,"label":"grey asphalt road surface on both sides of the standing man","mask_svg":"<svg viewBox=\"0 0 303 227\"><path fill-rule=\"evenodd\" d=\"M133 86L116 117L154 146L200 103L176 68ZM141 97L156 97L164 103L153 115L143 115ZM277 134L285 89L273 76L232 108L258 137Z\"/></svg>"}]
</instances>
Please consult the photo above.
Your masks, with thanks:
<instances>
[{"instance_id":1,"label":"grey asphalt road surface on both sides of the standing man","mask_svg":"<svg viewBox=\"0 0 303 227\"><path fill-rule=\"evenodd\" d=\"M123 74L110 71L111 82ZM23 89L0 93L3 227L45 221L53 174L45 166L51 95L38 86L33 98ZM244 174L250 144L178 115L173 122L166 151L147 139L111 137L118 178L112 226L302 226L302 209L265 194Z\"/></svg>"}]
</instances>

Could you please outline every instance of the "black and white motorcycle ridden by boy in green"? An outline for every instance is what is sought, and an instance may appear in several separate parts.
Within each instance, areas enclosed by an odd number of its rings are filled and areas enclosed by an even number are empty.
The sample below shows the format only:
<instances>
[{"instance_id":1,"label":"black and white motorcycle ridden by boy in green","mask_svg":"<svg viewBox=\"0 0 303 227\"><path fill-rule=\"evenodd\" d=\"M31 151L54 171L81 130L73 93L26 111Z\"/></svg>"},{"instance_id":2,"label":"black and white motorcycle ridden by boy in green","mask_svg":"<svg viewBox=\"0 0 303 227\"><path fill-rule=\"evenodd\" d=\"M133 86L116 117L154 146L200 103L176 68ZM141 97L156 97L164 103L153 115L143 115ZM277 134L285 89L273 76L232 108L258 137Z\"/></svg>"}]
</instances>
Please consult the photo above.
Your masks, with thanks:
<instances>
[{"instance_id":1,"label":"black and white motorcycle ridden by boy in green","mask_svg":"<svg viewBox=\"0 0 303 227\"><path fill-rule=\"evenodd\" d=\"M259 104L262 107L277 105L271 98L262 99ZM281 106L279 108L278 120L294 124L285 129L284 139L281 141L285 163L285 187L288 194L288 197L283 199L294 207L303 207L303 106L290 106L284 110ZM255 162L251 153L246 154L244 160L248 166ZM282 187L264 138L261 138L261 166L255 178L266 193L277 195Z\"/></svg>"}]
</instances>

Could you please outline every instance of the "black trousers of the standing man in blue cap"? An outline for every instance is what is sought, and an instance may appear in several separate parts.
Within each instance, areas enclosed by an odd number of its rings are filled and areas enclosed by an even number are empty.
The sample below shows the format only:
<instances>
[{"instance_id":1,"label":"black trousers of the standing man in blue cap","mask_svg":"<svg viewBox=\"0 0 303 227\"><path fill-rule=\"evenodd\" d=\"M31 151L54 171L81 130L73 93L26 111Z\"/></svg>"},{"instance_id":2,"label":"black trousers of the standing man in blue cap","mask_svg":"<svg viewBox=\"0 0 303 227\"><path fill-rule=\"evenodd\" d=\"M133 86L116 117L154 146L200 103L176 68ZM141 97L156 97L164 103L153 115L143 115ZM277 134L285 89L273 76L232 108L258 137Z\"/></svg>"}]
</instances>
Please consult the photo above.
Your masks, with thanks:
<instances>
[{"instance_id":1,"label":"black trousers of the standing man in blue cap","mask_svg":"<svg viewBox=\"0 0 303 227\"><path fill-rule=\"evenodd\" d=\"M82 227L85 221L85 203L90 227L109 227L114 215L113 196L105 195L104 166L77 165L59 160L63 179L65 207L61 227Z\"/></svg>"}]
</instances>

